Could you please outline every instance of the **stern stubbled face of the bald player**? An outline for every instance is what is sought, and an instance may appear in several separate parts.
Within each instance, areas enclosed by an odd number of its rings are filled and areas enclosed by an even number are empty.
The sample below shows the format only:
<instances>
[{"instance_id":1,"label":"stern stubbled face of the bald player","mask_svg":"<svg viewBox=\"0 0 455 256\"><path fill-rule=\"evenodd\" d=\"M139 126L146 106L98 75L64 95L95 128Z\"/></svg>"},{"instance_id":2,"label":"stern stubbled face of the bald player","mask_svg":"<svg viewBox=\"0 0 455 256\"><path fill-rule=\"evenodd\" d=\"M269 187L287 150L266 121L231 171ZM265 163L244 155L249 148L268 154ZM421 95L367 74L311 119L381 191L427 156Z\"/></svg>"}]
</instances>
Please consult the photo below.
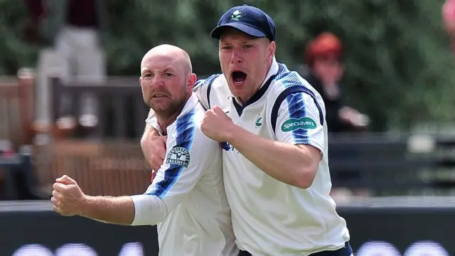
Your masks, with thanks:
<instances>
[{"instance_id":1,"label":"stern stubbled face of the bald player","mask_svg":"<svg viewBox=\"0 0 455 256\"><path fill-rule=\"evenodd\" d=\"M185 70L181 58L156 53L142 61L139 82L146 105L156 114L168 117L180 111L191 95L196 75Z\"/></svg>"}]
</instances>

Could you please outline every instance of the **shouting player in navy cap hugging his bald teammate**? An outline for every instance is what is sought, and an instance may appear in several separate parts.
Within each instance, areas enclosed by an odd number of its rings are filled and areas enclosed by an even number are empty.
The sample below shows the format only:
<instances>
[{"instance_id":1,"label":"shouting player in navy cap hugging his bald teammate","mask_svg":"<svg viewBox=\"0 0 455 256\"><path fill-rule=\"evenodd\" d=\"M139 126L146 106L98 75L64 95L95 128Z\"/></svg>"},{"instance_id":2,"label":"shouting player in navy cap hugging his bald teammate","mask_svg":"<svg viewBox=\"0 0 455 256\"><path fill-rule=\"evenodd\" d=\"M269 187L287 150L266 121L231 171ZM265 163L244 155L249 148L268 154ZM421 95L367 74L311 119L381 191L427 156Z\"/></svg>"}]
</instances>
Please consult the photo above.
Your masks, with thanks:
<instances>
[{"instance_id":1,"label":"shouting player in navy cap hugging his bald teammate","mask_svg":"<svg viewBox=\"0 0 455 256\"><path fill-rule=\"evenodd\" d=\"M237 256L352 256L346 220L330 196L324 102L277 62L275 30L255 7L227 11L211 33L223 73L193 89L207 110L200 131L223 148L225 193L242 250ZM293 121L306 119L311 125ZM289 122L294 127L287 129ZM141 146L162 163L156 152L166 149L155 134L144 133ZM279 193L271 198L270 191Z\"/></svg>"}]
</instances>

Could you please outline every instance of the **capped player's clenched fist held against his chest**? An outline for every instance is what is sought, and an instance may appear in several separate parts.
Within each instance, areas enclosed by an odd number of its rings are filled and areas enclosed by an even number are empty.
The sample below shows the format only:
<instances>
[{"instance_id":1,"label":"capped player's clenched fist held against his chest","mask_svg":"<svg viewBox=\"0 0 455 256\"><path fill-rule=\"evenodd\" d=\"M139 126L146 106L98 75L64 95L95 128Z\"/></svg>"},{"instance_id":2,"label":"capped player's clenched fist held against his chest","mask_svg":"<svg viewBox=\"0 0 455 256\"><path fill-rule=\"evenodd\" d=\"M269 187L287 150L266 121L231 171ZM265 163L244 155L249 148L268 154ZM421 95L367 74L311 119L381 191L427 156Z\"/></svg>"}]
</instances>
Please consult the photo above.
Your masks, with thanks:
<instances>
[{"instance_id":1,"label":"capped player's clenched fist held against his chest","mask_svg":"<svg viewBox=\"0 0 455 256\"><path fill-rule=\"evenodd\" d=\"M218 106L207 110L203 122L200 124L203 134L217 142L228 142L229 132L233 127L235 124Z\"/></svg>"}]
</instances>

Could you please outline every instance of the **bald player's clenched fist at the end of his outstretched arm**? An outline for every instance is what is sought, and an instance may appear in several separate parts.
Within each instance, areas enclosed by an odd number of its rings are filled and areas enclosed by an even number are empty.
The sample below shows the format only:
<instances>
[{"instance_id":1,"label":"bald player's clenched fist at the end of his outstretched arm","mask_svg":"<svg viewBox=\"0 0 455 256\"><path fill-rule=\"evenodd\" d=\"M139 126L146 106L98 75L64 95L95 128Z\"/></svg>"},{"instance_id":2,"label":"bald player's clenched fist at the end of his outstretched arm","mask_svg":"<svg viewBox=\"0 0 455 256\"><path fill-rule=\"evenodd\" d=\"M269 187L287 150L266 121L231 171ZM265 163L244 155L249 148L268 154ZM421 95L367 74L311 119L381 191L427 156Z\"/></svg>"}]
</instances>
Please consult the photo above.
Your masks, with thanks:
<instances>
[{"instance_id":1,"label":"bald player's clenched fist at the end of his outstretched arm","mask_svg":"<svg viewBox=\"0 0 455 256\"><path fill-rule=\"evenodd\" d=\"M55 212L64 216L80 215L85 195L73 178L66 175L55 179L53 184L52 198Z\"/></svg>"}]
</instances>

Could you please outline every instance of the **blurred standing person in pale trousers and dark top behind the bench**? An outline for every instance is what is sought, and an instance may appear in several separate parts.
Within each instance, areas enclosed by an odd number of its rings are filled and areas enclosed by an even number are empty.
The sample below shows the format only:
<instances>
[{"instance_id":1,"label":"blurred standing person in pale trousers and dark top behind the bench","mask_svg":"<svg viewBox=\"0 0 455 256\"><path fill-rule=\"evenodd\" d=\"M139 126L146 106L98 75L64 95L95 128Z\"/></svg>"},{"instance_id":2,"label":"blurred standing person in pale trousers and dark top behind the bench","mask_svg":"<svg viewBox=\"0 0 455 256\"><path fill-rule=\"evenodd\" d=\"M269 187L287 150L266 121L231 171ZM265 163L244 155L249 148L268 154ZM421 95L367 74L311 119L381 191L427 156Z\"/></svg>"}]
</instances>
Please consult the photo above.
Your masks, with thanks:
<instances>
[{"instance_id":1,"label":"blurred standing person in pale trousers and dark top behind the bench","mask_svg":"<svg viewBox=\"0 0 455 256\"><path fill-rule=\"evenodd\" d=\"M105 80L107 1L103 0L25 0L31 15L28 38L42 46L38 56L37 118L51 124L49 78L102 82ZM62 95L65 104L63 116L70 110L69 99ZM97 101L84 95L80 102L79 122L84 127L97 123ZM60 118L59 124L75 126L73 117Z\"/></svg>"}]
</instances>

